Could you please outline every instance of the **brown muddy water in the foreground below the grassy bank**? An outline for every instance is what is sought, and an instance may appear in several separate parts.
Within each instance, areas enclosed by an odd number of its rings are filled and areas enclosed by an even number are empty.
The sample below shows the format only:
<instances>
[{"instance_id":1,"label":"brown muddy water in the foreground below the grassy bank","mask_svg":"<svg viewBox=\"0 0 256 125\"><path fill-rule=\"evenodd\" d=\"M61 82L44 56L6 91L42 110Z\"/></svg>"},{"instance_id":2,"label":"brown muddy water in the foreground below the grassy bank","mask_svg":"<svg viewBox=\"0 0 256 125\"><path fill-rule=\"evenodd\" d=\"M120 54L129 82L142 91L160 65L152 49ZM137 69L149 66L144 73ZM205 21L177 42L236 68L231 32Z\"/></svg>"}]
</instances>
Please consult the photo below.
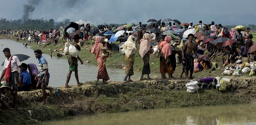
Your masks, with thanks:
<instances>
[{"instance_id":1,"label":"brown muddy water in the foreground below the grassy bank","mask_svg":"<svg viewBox=\"0 0 256 125\"><path fill-rule=\"evenodd\" d=\"M256 125L256 105L148 109L69 117L45 125Z\"/></svg>"}]
</instances>

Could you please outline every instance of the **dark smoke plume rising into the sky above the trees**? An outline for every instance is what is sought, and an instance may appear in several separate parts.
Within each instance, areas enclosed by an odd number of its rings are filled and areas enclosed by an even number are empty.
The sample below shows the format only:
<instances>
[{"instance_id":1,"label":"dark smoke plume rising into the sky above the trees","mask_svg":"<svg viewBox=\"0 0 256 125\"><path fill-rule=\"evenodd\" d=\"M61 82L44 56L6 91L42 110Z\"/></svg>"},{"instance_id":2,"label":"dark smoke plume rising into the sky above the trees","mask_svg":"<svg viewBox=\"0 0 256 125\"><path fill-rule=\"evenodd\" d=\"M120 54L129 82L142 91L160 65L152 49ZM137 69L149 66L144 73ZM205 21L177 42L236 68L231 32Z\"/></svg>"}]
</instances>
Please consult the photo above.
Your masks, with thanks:
<instances>
[{"instance_id":1,"label":"dark smoke plume rising into the sky above the trees","mask_svg":"<svg viewBox=\"0 0 256 125\"><path fill-rule=\"evenodd\" d=\"M35 6L38 5L41 0L28 0L28 4L23 5L23 12L22 20L23 22L29 18L29 14L35 10Z\"/></svg>"}]
</instances>

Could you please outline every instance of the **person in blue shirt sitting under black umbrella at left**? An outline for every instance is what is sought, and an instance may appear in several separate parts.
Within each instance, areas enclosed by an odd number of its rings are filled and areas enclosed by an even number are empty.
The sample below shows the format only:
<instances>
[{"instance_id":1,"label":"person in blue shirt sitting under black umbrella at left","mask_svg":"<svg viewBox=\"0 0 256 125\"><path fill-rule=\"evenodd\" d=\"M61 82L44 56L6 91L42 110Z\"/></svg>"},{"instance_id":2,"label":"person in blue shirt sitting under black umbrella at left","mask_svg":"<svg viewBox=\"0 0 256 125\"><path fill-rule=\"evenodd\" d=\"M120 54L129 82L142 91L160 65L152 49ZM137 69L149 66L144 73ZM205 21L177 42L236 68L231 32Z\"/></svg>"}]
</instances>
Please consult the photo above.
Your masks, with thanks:
<instances>
[{"instance_id":1,"label":"person in blue shirt sitting under black umbrella at left","mask_svg":"<svg viewBox=\"0 0 256 125\"><path fill-rule=\"evenodd\" d=\"M31 82L31 76L28 73L28 65L26 63L21 64L21 69L22 69L22 84L21 86L18 87L18 91L29 91L30 85L32 84Z\"/></svg>"}]
</instances>

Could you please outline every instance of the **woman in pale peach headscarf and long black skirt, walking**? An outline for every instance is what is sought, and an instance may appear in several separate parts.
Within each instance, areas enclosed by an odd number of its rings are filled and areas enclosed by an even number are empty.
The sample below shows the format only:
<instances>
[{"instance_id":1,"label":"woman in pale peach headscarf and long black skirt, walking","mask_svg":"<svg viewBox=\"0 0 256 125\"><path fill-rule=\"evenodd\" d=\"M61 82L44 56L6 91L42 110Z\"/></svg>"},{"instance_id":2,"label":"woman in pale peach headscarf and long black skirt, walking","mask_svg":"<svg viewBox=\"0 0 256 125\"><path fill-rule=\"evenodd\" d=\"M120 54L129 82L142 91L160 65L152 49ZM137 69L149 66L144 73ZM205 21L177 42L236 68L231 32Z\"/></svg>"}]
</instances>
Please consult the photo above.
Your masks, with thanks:
<instances>
[{"instance_id":1,"label":"woman in pale peach headscarf and long black skirt, walking","mask_svg":"<svg viewBox=\"0 0 256 125\"><path fill-rule=\"evenodd\" d=\"M140 56L143 59L144 65L142 68L142 74L140 77L140 80L144 80L144 74L147 74L148 77L147 79L150 79L149 74L150 74L150 65L149 65L149 58L150 58L150 53L153 53L154 50L152 49L151 45L151 35L148 33L145 33L142 37L141 43L140 43Z\"/></svg>"}]
</instances>

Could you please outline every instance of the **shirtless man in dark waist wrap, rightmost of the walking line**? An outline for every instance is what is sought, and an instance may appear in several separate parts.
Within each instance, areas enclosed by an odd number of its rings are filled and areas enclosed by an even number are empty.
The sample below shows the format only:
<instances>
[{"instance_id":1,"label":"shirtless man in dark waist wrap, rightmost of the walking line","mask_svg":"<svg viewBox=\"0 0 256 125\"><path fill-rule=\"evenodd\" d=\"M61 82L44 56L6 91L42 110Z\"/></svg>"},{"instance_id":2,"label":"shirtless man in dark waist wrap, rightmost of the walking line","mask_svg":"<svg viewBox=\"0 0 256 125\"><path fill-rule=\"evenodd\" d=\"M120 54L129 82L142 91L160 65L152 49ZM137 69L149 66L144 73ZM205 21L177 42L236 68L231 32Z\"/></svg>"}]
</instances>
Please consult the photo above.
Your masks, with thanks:
<instances>
[{"instance_id":1,"label":"shirtless man in dark waist wrap, rightmost of the walking line","mask_svg":"<svg viewBox=\"0 0 256 125\"><path fill-rule=\"evenodd\" d=\"M195 55L198 57L196 53L196 43L193 41L194 35L193 34L188 34L188 42L184 44L183 50L182 50L182 60L186 60L186 66L183 66L186 79L194 79L192 77L193 70L194 70L194 58L192 57L193 51ZM188 70L190 70L190 77L188 78Z\"/></svg>"}]
</instances>

